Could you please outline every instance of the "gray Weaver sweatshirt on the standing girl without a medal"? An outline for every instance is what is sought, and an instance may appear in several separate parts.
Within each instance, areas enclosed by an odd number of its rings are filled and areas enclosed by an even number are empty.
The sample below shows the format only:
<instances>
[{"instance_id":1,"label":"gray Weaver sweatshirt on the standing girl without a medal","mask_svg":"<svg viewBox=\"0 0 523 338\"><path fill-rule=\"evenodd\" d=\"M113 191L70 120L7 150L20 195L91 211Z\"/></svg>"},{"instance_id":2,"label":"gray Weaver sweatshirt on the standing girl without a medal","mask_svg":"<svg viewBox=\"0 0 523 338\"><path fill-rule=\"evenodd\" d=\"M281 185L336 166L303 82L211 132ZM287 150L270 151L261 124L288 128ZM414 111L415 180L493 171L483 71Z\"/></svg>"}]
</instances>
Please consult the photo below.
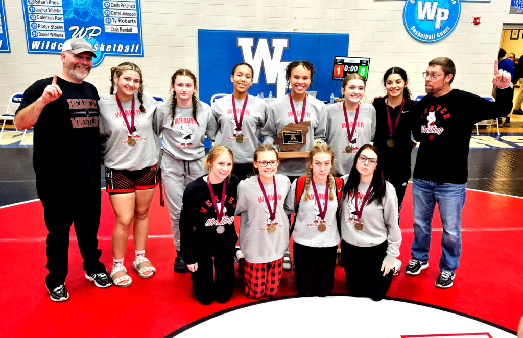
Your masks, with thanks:
<instances>
[{"instance_id":1,"label":"gray Weaver sweatshirt on the standing girl without a medal","mask_svg":"<svg viewBox=\"0 0 523 338\"><path fill-rule=\"evenodd\" d=\"M163 132L162 148L176 160L194 161L205 155L203 140L207 135L214 140L218 125L212 115L211 107L199 102L196 119L192 118L192 106L176 107L173 120L172 99L158 105L158 135ZM199 124L198 124L199 123Z\"/></svg>"}]
</instances>

